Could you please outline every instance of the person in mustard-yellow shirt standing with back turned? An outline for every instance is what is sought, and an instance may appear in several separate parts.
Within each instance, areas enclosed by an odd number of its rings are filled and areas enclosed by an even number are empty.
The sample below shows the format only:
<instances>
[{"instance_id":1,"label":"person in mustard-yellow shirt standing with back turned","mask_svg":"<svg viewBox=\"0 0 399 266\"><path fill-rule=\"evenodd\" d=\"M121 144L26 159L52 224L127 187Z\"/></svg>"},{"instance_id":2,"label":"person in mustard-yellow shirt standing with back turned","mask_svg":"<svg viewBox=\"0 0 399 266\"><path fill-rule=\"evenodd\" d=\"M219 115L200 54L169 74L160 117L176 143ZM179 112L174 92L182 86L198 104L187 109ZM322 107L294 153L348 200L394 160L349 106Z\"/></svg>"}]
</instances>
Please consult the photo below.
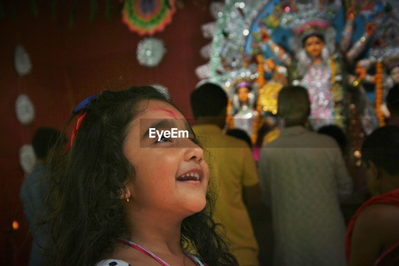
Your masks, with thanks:
<instances>
[{"instance_id":1,"label":"person in mustard-yellow shirt standing with back turned","mask_svg":"<svg viewBox=\"0 0 399 266\"><path fill-rule=\"evenodd\" d=\"M197 125L192 128L205 151L204 158L217 175L219 188L214 219L226 228L231 252L240 265L259 265L259 247L248 209L259 207L260 188L255 161L245 141L225 135L227 95L211 83L195 89L191 108Z\"/></svg>"}]
</instances>

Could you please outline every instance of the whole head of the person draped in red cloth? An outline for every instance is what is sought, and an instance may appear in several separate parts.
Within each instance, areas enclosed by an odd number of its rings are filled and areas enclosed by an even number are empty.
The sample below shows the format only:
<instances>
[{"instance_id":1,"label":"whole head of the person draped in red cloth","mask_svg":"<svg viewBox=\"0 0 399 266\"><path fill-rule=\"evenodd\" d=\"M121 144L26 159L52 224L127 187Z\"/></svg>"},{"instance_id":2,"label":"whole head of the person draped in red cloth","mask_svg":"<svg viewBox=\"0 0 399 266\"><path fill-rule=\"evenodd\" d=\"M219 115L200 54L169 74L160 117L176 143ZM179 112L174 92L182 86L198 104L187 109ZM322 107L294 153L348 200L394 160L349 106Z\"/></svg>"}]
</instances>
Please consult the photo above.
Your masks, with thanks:
<instances>
[{"instance_id":1,"label":"whole head of the person draped in red cloth","mask_svg":"<svg viewBox=\"0 0 399 266\"><path fill-rule=\"evenodd\" d=\"M363 142L361 157L366 169L367 186L374 195L398 189L399 127L385 126L373 131Z\"/></svg>"}]
</instances>

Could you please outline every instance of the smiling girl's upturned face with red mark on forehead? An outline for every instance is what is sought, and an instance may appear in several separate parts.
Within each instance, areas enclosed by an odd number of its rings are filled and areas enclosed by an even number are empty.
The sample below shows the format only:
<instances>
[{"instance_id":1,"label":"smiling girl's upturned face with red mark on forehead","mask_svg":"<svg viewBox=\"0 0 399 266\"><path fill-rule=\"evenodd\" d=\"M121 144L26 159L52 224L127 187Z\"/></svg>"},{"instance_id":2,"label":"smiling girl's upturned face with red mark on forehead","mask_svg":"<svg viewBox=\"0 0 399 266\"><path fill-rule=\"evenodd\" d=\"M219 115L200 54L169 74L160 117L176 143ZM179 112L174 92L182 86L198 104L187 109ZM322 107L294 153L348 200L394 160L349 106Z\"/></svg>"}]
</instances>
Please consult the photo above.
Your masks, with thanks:
<instances>
[{"instance_id":1,"label":"smiling girl's upturned face with red mark on forehead","mask_svg":"<svg viewBox=\"0 0 399 266\"><path fill-rule=\"evenodd\" d=\"M136 178L126 186L132 208L169 215L190 216L206 204L209 167L203 150L192 141L194 133L184 116L172 105L143 101L146 107L130 124L124 155L136 169ZM150 128L188 131L188 137L158 140ZM151 138L150 135L155 135ZM182 177L184 176L184 178ZM198 180L197 180L198 179Z\"/></svg>"}]
</instances>

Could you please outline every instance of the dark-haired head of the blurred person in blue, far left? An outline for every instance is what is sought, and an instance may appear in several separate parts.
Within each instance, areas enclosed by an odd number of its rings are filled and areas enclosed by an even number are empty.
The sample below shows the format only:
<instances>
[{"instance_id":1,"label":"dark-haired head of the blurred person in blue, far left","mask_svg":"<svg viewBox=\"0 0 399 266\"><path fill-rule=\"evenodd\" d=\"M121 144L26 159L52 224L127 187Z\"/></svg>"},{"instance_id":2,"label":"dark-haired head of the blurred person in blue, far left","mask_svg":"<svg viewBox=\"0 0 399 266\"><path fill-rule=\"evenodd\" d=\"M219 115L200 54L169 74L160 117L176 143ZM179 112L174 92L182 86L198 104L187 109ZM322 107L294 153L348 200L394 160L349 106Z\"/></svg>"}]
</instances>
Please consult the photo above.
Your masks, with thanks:
<instances>
[{"instance_id":1,"label":"dark-haired head of the blurred person in blue, far left","mask_svg":"<svg viewBox=\"0 0 399 266\"><path fill-rule=\"evenodd\" d=\"M40 127L32 138L32 147L38 159L45 159L49 153L51 147L55 145L57 139L61 137L63 133L52 127ZM64 143L66 141L65 135L63 135Z\"/></svg>"}]
</instances>

